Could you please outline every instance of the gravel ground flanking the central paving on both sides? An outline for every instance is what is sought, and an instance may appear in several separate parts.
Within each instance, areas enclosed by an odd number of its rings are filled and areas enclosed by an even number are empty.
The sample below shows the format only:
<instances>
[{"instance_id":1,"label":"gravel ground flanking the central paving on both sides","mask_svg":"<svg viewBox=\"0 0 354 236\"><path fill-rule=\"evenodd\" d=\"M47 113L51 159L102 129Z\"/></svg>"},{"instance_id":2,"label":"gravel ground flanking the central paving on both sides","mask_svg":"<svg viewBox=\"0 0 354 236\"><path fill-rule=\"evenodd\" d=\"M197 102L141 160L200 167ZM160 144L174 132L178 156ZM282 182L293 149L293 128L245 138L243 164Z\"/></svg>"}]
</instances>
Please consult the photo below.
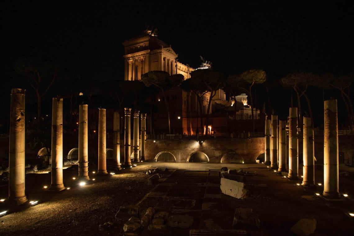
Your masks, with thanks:
<instances>
[{"instance_id":1,"label":"gravel ground flanking the central paving on both sides","mask_svg":"<svg viewBox=\"0 0 354 236\"><path fill-rule=\"evenodd\" d=\"M152 163L153 165L153 163ZM263 166L264 167L264 166ZM111 231L99 231L99 225L115 221L115 213L122 205L135 205L155 189L148 185L145 172L151 168L147 163L132 169L124 169L116 175L99 177L90 173L90 183L79 186L72 177L77 169L64 169L64 185L70 187L62 192L43 189L50 185L49 173L28 174L26 195L28 200L39 200L40 204L22 209L0 218L0 235L123 235L122 224ZM349 194L341 201L325 201L320 197L305 199L323 191L323 186L305 190L296 183L281 178L267 168L250 168L258 175L250 177L253 184L264 184L252 189L251 195L239 200L222 195L222 208L225 217L224 229L232 229L233 214L238 207L250 207L259 215L261 227L248 228L249 235L291 235L290 228L299 219L313 217L317 221L314 235L354 235L354 218L348 212L354 211L354 175L339 178L339 192ZM301 169L299 169L301 175ZM173 172L173 170L171 170ZM323 183L323 170L316 169L316 182ZM95 180L92 180L95 178ZM6 198L7 184L0 183L0 197ZM188 192L190 189L182 191ZM2 205L5 206L5 203ZM196 221L193 229L200 229L202 222ZM143 231L143 235L162 235L162 232ZM187 231L185 235L188 234ZM166 235L166 232L164 233Z\"/></svg>"}]
</instances>

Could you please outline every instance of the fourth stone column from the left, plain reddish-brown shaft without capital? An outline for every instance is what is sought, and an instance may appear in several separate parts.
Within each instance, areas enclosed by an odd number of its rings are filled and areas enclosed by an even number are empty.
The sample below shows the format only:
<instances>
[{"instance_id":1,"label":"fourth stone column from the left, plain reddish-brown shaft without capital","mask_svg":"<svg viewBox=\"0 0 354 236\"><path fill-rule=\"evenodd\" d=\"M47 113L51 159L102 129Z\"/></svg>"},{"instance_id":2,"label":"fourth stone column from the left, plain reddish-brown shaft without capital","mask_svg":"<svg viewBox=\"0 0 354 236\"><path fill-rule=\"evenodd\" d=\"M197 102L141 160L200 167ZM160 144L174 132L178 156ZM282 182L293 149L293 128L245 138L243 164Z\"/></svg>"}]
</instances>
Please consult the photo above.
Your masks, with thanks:
<instances>
[{"instance_id":1,"label":"fourth stone column from the left, plain reddish-brown shaft without capital","mask_svg":"<svg viewBox=\"0 0 354 236\"><path fill-rule=\"evenodd\" d=\"M106 109L98 109L98 171L108 174L106 166Z\"/></svg>"}]
</instances>

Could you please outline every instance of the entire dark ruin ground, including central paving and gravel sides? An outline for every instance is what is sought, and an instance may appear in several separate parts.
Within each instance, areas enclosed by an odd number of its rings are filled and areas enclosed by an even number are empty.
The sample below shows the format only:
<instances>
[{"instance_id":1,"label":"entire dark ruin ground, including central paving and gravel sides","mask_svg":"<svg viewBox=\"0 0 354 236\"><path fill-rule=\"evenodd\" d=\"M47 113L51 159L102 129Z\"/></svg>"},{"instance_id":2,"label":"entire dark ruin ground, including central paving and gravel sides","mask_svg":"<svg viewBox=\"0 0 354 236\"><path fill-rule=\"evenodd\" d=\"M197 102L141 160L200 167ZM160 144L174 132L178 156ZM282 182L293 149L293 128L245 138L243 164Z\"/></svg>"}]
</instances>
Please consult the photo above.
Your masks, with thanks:
<instances>
[{"instance_id":1,"label":"entire dark ruin ground, including central paving and gravel sides","mask_svg":"<svg viewBox=\"0 0 354 236\"><path fill-rule=\"evenodd\" d=\"M326 201L314 195L323 191L323 185L305 190L296 185L301 181L282 178L264 165L249 166L251 168L245 170L257 172L257 175L245 177L251 184L245 199L221 193L220 169L170 168L168 173L162 173L157 184L150 185L148 179L152 175L146 172L154 169L154 163L142 163L104 177L90 172L90 182L80 186L72 179L77 176L77 169L68 168L63 171L64 185L70 189L59 193L43 188L50 186L50 173L27 174L27 198L38 200L39 204L0 217L0 235L124 235L123 225L129 216L116 219L115 214L120 206L126 205L138 206L140 218L148 207L153 207L156 212L189 215L194 220L188 229L168 226L165 230L144 229L140 235L189 235L190 230L235 229L236 208L252 208L258 215L259 228L254 225L236 227L246 230L248 235L291 235L290 228L301 218L316 219L314 235L354 234L354 217L348 215L354 212L353 168L339 168L339 192L349 196L340 201ZM299 172L301 175L302 170ZM316 182L323 183L323 170L316 168L315 173ZM0 182L0 186L0 197L6 198L6 181ZM1 209L6 204L6 201L0 203ZM112 224L105 227L107 222Z\"/></svg>"}]
</instances>

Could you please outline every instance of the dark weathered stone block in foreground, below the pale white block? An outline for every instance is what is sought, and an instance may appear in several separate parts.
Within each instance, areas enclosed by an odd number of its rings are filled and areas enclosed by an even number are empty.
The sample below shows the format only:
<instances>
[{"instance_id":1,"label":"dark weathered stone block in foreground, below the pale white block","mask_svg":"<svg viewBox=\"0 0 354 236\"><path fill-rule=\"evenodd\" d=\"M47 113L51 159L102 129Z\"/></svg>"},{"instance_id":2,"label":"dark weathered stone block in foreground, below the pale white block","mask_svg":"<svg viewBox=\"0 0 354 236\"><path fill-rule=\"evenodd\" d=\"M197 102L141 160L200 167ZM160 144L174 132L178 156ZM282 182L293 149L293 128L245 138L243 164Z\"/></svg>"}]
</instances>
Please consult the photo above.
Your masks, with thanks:
<instances>
[{"instance_id":1,"label":"dark weathered stone block in foreground, below the pale white block","mask_svg":"<svg viewBox=\"0 0 354 236\"><path fill-rule=\"evenodd\" d=\"M239 226L256 226L259 228L258 214L254 213L252 208L236 208L232 226L234 228Z\"/></svg>"}]
</instances>

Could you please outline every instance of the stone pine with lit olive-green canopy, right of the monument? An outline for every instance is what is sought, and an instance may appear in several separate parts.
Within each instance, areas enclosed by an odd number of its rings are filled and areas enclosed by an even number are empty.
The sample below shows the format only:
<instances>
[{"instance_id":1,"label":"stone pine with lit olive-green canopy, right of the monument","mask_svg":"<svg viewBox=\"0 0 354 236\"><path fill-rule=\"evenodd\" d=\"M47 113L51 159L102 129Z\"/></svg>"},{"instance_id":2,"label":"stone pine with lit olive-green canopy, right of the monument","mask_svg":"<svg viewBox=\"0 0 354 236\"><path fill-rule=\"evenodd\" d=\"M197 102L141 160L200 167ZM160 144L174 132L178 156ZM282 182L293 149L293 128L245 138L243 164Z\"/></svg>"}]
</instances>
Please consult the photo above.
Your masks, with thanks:
<instances>
[{"instance_id":1,"label":"stone pine with lit olive-green canopy, right of the monument","mask_svg":"<svg viewBox=\"0 0 354 236\"><path fill-rule=\"evenodd\" d=\"M252 96L252 87L255 84L263 84L267 76L264 70L260 69L250 69L238 75L231 75L228 77L229 84L235 84L241 92L244 92L248 95L251 103L251 117L253 132L255 131L255 117L253 112L253 96Z\"/></svg>"}]
</instances>

